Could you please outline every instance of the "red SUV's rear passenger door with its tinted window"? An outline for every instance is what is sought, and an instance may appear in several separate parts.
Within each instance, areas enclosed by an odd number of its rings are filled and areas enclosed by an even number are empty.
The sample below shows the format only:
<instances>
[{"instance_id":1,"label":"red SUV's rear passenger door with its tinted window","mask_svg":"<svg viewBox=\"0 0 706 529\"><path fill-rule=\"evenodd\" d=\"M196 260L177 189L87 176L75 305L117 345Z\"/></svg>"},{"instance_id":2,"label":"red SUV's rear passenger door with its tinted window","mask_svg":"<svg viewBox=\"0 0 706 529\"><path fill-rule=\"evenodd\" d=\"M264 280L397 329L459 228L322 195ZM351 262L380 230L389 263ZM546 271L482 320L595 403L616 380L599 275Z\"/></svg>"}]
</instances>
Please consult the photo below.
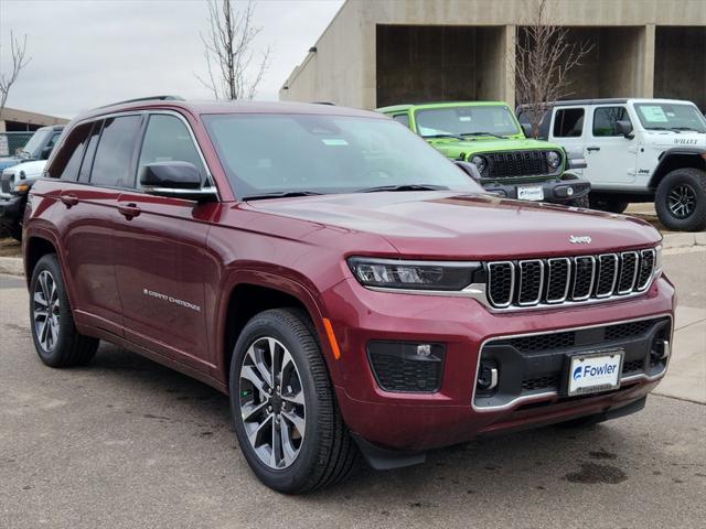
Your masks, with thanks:
<instances>
[{"instance_id":1,"label":"red SUV's rear passenger door with its tinted window","mask_svg":"<svg viewBox=\"0 0 706 529\"><path fill-rule=\"evenodd\" d=\"M141 120L142 116L131 115L79 125L66 140L77 148L65 172L76 174L60 196L65 208L60 233L76 315L118 335L122 306L115 277L117 206L128 183Z\"/></svg>"}]
</instances>

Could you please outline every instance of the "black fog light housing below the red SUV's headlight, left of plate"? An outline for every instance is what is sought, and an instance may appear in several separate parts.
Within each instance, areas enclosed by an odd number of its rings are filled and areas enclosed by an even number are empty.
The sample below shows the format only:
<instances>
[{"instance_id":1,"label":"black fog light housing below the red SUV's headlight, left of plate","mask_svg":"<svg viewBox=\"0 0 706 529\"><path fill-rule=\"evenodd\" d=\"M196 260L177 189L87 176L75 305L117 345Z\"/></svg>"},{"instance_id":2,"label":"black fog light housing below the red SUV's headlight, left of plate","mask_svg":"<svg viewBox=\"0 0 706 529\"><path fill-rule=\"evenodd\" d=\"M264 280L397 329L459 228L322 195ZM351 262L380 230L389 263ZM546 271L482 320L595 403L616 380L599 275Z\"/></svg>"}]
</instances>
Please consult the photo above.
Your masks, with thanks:
<instances>
[{"instance_id":1,"label":"black fog light housing below the red SUV's headlight, left of plate","mask_svg":"<svg viewBox=\"0 0 706 529\"><path fill-rule=\"evenodd\" d=\"M443 344L372 341L367 344L367 358L384 391L434 393L441 389Z\"/></svg>"}]
</instances>

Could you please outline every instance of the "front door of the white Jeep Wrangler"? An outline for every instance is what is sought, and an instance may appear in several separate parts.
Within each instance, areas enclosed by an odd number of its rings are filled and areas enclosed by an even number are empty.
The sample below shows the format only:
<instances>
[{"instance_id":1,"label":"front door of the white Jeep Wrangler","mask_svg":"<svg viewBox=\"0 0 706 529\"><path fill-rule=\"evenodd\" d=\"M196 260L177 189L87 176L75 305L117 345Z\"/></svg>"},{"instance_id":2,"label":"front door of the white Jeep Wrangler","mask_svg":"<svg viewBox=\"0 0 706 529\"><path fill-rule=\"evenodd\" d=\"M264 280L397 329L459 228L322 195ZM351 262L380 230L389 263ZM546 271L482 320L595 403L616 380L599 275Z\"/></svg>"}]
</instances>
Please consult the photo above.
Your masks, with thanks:
<instances>
[{"instance_id":1,"label":"front door of the white Jeep Wrangler","mask_svg":"<svg viewBox=\"0 0 706 529\"><path fill-rule=\"evenodd\" d=\"M618 121L630 121L624 105L593 109L586 140L586 175L597 188L624 187L635 181L638 139L625 138Z\"/></svg>"}]
</instances>

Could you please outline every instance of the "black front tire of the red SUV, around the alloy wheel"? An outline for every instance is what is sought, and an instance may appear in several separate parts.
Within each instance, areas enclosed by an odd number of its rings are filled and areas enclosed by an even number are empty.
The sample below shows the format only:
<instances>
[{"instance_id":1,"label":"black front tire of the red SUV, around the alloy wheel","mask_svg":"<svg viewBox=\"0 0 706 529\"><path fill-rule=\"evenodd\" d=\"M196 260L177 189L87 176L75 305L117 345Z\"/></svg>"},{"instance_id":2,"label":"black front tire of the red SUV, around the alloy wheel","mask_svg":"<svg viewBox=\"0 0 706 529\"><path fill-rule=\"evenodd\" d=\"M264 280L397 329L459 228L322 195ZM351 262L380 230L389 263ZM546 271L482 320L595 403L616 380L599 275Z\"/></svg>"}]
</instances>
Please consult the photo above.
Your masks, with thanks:
<instances>
[{"instance_id":1,"label":"black front tire of the red SUV, around the alloy wheel","mask_svg":"<svg viewBox=\"0 0 706 529\"><path fill-rule=\"evenodd\" d=\"M250 346L265 337L275 338L291 355L306 401L306 434L293 463L285 468L274 468L260 460L248 440L240 409L242 399L248 393L242 384L240 369ZM304 313L296 309L269 310L245 325L231 361L229 390L243 455L265 485L280 493L302 494L333 485L349 475L357 447L341 417L315 331Z\"/></svg>"}]
</instances>

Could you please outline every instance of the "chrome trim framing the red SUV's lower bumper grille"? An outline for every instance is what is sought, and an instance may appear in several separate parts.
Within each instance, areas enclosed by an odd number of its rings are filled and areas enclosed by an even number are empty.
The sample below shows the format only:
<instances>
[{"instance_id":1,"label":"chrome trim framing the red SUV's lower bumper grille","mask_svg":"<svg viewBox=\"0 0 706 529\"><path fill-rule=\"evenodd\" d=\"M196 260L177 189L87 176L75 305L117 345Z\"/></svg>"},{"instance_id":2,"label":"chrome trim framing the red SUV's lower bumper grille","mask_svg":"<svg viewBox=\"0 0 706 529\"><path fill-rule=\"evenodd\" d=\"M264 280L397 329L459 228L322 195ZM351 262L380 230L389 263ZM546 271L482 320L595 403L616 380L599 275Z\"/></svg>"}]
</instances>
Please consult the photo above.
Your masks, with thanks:
<instances>
[{"instance_id":1,"label":"chrome trim framing the red SUV's lower bumper grille","mask_svg":"<svg viewBox=\"0 0 706 529\"><path fill-rule=\"evenodd\" d=\"M481 353L483 350L483 347L489 343L489 342L494 342L494 341L502 341L502 339L509 339L509 338L522 338L525 336L536 336L538 334L557 334L557 333L565 333L565 332L571 332L571 331L581 331L585 328L597 328L597 327L608 327L611 325L620 325L623 323L632 323L632 322L642 322L644 320L656 320L659 317L665 317L667 316L670 319L670 342L674 343L674 316L672 315L672 313L670 312L665 312L665 313L660 313L660 314L651 314L649 316L641 316L641 317L633 317L630 320L619 320L616 322L607 322L607 323L599 323L599 324L595 324L595 325L584 325L580 327L568 327L568 328L556 328L556 330L549 330L549 331L538 331L538 332L533 332L533 333L521 333L521 334L507 334L507 335L503 335L503 336L492 336L490 338L485 338L479 349L478 349L478 361L475 365L475 377L472 380L473 384L473 389L471 392L471 408L474 411L478 412L492 412L492 411L501 411L501 410L507 410L510 408L514 408L516 407L520 402L525 402L525 401L532 401L532 400L543 400L546 399L547 397L555 397L558 396L559 392L558 391L545 391L542 393L535 393L535 395L523 395L520 397L514 398L513 400L511 400L510 402L506 402L504 404L500 404L500 406L475 406L475 389L478 387L478 373L479 369L481 367ZM648 376L645 374L641 374L641 375L631 375L629 377L620 377L620 384L622 386L623 382L631 382L634 380L646 380L646 381L653 381L653 380L659 380L662 377L664 377L664 375L666 374L667 368L670 367L670 361L672 360L672 355L667 356L666 358L666 364L664 365L664 369L662 369L660 373L657 373L656 375L653 376ZM621 388L618 388L621 389ZM597 393L591 393L595 397L600 397L602 393L601 392L597 392Z\"/></svg>"}]
</instances>

